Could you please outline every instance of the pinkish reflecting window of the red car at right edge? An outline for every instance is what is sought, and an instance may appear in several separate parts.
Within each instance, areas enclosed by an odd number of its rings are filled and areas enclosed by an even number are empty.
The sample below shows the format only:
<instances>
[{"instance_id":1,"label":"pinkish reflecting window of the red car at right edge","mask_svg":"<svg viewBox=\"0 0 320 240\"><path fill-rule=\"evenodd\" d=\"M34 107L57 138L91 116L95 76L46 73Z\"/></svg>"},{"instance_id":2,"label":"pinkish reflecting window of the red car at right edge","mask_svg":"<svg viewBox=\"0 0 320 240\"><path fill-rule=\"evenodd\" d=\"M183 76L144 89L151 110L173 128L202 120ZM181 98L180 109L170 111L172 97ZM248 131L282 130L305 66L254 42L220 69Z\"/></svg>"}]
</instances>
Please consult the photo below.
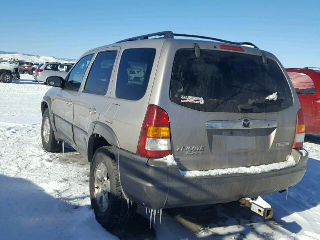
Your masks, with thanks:
<instances>
[{"instance_id":1,"label":"pinkish reflecting window of the red car at right edge","mask_svg":"<svg viewBox=\"0 0 320 240\"><path fill-rule=\"evenodd\" d=\"M311 77L300 72L288 72L297 94L315 94L316 89Z\"/></svg>"}]
</instances>

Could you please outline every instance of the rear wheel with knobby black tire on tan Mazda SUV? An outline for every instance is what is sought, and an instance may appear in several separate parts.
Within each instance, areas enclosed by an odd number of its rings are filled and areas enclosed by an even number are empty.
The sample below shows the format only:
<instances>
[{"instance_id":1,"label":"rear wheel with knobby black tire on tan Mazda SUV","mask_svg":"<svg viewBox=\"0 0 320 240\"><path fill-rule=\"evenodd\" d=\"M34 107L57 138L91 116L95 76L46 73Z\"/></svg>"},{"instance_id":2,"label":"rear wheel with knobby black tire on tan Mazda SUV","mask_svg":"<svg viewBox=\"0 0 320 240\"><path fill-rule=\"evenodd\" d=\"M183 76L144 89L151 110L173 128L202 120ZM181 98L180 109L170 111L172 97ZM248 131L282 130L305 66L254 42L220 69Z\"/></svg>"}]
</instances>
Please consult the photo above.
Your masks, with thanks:
<instances>
[{"instance_id":1,"label":"rear wheel with knobby black tire on tan Mazda SUV","mask_svg":"<svg viewBox=\"0 0 320 240\"><path fill-rule=\"evenodd\" d=\"M101 170L103 165L105 174ZM104 177L99 178L98 175ZM103 202L103 195L108 201L106 208L104 204L98 204ZM136 212L137 205L128 204L123 196L118 164L110 146L100 147L93 156L90 169L90 198L96 220L107 230L125 226Z\"/></svg>"}]
</instances>

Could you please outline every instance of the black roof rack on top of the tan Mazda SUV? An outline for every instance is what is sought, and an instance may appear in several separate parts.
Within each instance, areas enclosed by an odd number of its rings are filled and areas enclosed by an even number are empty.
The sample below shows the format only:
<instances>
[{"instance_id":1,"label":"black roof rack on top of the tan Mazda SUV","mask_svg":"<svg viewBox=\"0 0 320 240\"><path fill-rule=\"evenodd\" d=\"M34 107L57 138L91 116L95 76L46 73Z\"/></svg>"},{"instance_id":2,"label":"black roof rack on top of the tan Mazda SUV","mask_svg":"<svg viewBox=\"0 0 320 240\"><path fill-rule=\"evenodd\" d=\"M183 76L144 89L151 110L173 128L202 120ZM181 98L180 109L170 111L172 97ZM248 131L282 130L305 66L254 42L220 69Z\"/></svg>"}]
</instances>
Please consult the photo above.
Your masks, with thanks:
<instances>
[{"instance_id":1,"label":"black roof rack on top of the tan Mazda SUV","mask_svg":"<svg viewBox=\"0 0 320 240\"><path fill-rule=\"evenodd\" d=\"M121 40L121 41L117 41L115 43L126 42L126 41L136 41L136 40L147 40L147 39L149 39L149 37L152 37L152 36L163 36L162 38L170 38L170 39L174 39L174 36L193 37L193 38L201 38L201 39L219 41L219 42L224 42L224 43L234 44L234 45L241 45L241 46L242 45L248 45L248 46L253 46L254 48L259 49L256 45L254 45L251 42L227 41L227 40L222 40L222 39L219 39L219 38L213 38L213 37L208 37L208 36L198 36L198 35L173 33L172 31L161 31L161 32L151 33L151 34L142 35L142 36L135 36L135 37L131 37L131 38L128 38L128 39Z\"/></svg>"}]
</instances>

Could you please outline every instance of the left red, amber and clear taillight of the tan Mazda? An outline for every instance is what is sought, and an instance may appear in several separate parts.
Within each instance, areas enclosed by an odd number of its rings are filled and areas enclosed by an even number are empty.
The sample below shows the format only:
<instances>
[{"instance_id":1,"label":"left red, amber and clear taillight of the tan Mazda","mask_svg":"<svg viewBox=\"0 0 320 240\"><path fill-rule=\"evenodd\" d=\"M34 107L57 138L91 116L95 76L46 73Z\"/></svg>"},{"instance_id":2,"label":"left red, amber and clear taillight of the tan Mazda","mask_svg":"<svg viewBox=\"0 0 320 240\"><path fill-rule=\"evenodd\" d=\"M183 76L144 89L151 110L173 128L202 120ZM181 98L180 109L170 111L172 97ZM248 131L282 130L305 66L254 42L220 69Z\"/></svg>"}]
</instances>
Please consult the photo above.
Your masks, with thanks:
<instances>
[{"instance_id":1,"label":"left red, amber and clear taillight of the tan Mazda","mask_svg":"<svg viewBox=\"0 0 320 240\"><path fill-rule=\"evenodd\" d=\"M170 155L170 139L168 114L162 108L150 104L141 128L137 154L150 158Z\"/></svg>"}]
</instances>

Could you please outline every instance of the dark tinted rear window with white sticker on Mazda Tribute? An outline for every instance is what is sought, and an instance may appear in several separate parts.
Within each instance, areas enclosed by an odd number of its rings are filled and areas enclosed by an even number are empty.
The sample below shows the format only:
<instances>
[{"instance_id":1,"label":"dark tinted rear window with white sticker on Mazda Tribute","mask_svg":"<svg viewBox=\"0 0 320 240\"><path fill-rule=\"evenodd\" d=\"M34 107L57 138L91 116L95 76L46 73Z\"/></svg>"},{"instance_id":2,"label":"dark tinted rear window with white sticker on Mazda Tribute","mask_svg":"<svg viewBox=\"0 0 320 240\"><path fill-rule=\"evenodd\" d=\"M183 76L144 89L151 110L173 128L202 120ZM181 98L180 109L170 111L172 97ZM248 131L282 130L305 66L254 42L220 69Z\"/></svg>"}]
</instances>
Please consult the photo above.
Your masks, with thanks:
<instances>
[{"instance_id":1,"label":"dark tinted rear window with white sticker on Mazda Tribute","mask_svg":"<svg viewBox=\"0 0 320 240\"><path fill-rule=\"evenodd\" d=\"M278 64L261 56L194 49L176 52L170 98L207 112L277 112L292 105L289 84Z\"/></svg>"}]
</instances>

